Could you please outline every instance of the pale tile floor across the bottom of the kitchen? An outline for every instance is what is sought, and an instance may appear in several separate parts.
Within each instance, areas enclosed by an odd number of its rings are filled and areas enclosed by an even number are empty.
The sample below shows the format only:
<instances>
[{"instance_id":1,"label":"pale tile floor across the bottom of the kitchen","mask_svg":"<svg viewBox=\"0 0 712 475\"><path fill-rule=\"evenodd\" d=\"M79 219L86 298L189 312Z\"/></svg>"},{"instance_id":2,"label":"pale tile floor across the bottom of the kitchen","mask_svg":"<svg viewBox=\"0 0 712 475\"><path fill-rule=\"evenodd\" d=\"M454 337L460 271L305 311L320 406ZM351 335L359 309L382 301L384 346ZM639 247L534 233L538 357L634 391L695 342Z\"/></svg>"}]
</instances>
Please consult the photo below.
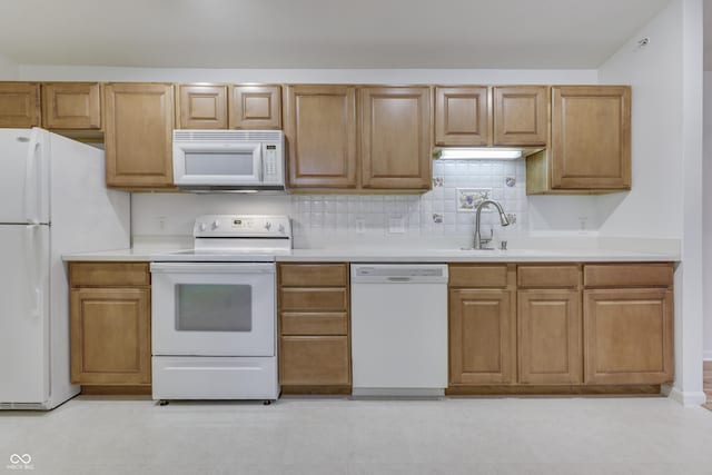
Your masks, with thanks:
<instances>
[{"instance_id":1,"label":"pale tile floor across the bottom of the kitchen","mask_svg":"<svg viewBox=\"0 0 712 475\"><path fill-rule=\"evenodd\" d=\"M78 397L0 413L0 473L695 475L712 474L710 447L712 412L660 397ZM12 454L31 455L32 471Z\"/></svg>"}]
</instances>

